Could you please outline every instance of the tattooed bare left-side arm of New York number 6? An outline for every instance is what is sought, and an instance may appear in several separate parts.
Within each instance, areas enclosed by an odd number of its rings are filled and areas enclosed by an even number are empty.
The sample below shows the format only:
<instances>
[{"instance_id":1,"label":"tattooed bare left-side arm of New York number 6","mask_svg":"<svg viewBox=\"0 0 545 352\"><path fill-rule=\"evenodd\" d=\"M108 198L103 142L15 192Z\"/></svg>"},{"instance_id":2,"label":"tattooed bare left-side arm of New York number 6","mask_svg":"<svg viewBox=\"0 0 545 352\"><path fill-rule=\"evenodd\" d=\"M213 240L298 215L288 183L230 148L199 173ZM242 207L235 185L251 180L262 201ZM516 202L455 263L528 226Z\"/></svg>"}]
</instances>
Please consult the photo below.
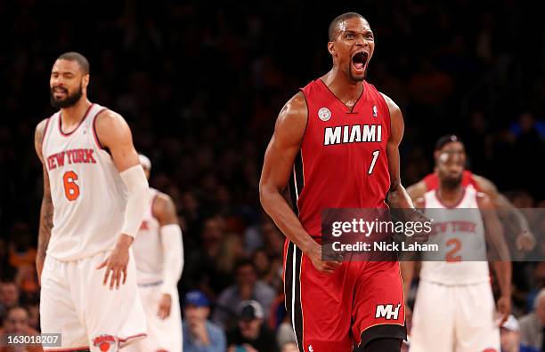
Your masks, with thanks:
<instances>
[{"instance_id":1,"label":"tattooed bare left-side arm of New York number 6","mask_svg":"<svg viewBox=\"0 0 545 352\"><path fill-rule=\"evenodd\" d=\"M51 199L51 188L49 187L49 175L45 169L44 156L42 156L42 141L44 140L45 125L47 120L43 120L37 124L36 132L34 133L34 148L36 154L42 162L44 171L44 196L42 198L42 207L40 209L40 228L38 230L38 245L36 254L36 270L38 281L41 283L42 269L44 268L45 252L47 244L51 237L51 229L53 228L53 202Z\"/></svg>"}]
</instances>

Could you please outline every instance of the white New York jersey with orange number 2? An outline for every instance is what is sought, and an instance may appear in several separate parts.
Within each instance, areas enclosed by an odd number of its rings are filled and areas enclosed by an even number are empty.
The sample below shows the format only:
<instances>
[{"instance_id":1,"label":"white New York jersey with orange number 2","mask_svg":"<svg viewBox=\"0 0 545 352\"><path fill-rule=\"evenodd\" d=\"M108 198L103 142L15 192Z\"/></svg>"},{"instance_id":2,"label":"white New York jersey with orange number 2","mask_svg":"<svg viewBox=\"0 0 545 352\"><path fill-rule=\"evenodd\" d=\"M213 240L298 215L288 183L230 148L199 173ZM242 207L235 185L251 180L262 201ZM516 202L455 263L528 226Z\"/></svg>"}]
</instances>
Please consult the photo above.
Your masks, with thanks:
<instances>
[{"instance_id":1,"label":"white New York jersey with orange number 2","mask_svg":"<svg viewBox=\"0 0 545 352\"><path fill-rule=\"evenodd\" d=\"M437 284L477 284L490 280L486 243L476 189L464 188L455 207L444 206L436 190L425 194L426 215L433 219L435 236L428 244L438 244L439 252L423 252L420 278Z\"/></svg>"}]
</instances>

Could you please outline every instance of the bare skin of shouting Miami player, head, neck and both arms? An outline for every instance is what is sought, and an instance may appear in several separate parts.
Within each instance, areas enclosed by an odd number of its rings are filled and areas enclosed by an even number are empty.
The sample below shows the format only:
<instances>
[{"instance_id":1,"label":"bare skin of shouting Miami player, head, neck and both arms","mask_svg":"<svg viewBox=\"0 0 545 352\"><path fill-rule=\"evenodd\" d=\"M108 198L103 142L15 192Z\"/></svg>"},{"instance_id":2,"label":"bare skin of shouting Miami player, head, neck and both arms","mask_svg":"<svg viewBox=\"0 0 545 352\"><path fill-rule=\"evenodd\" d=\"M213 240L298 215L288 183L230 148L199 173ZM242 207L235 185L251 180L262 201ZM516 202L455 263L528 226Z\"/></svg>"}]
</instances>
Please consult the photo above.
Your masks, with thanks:
<instances>
[{"instance_id":1,"label":"bare skin of shouting Miami player, head, neck and both arms","mask_svg":"<svg viewBox=\"0 0 545 352\"><path fill-rule=\"evenodd\" d=\"M366 70L374 47L374 37L369 23L359 17L342 22L338 27L336 39L328 43L333 68L321 76L321 80L348 108L352 108L362 94L362 80L365 76L365 72L354 67L352 58L359 52L366 52L368 55L364 66ZM384 97L390 110L392 124L386 147L391 179L387 201L392 207L412 208L411 198L400 180L399 144L403 138L403 115L394 101L386 95ZM321 272L332 273L340 266L340 261L321 260L320 244L305 231L297 215L282 196L303 141L307 119L305 96L298 92L284 105L276 120L273 138L264 156L259 196L265 212L271 216L282 233L312 260L313 266Z\"/></svg>"}]
</instances>

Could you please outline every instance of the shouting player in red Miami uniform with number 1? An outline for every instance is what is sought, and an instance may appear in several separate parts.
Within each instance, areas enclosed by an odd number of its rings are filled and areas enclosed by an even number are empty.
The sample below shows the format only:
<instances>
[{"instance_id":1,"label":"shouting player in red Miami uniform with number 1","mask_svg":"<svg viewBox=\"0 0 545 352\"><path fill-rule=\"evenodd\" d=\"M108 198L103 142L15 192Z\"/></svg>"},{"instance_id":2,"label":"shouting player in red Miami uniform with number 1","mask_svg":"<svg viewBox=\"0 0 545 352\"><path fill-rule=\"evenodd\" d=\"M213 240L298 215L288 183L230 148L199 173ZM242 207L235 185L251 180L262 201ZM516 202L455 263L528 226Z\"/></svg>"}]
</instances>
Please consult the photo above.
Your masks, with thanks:
<instances>
[{"instance_id":1,"label":"shouting player in red Miami uniform with number 1","mask_svg":"<svg viewBox=\"0 0 545 352\"><path fill-rule=\"evenodd\" d=\"M364 79L374 48L362 15L333 20L333 68L281 109L264 156L261 203L287 237L284 290L300 351L399 351L405 338L399 263L324 261L317 242L322 209L387 208L386 197L412 208L399 171L402 113ZM282 196L290 176L293 207Z\"/></svg>"}]
</instances>

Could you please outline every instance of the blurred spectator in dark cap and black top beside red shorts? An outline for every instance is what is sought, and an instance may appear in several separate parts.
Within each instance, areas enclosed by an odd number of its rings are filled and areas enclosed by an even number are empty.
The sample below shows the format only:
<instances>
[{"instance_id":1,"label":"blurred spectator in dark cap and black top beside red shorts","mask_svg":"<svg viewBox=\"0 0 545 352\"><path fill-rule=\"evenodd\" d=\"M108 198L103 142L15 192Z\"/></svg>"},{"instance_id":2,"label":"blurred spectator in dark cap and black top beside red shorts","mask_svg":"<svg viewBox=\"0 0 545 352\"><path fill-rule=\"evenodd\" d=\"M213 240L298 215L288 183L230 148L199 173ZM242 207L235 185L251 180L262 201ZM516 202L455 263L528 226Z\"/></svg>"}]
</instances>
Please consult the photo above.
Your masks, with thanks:
<instances>
[{"instance_id":1,"label":"blurred spectator in dark cap and black top beside red shorts","mask_svg":"<svg viewBox=\"0 0 545 352\"><path fill-rule=\"evenodd\" d=\"M243 300L237 306L238 326L227 333L227 352L276 352L273 332L264 324L263 307L256 300ZM239 348L239 349L237 349Z\"/></svg>"}]
</instances>

